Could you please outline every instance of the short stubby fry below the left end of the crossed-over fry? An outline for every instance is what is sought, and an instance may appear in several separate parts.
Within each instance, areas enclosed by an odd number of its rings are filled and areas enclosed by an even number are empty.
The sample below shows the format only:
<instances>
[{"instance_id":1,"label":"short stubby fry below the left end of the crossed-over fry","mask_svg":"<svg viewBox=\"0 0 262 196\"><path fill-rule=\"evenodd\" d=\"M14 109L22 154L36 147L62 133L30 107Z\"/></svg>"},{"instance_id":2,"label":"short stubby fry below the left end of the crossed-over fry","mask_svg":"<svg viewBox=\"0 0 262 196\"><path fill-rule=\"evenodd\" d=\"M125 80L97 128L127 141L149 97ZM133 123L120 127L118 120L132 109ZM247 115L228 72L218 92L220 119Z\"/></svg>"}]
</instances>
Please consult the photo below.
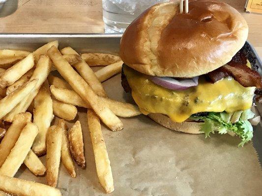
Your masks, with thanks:
<instances>
[{"instance_id":1,"label":"short stubby fry below the left end of the crossed-over fry","mask_svg":"<svg viewBox=\"0 0 262 196\"><path fill-rule=\"evenodd\" d=\"M63 103L53 98L53 112L55 116L72 121L76 118L77 108L74 105Z\"/></svg>"}]
</instances>

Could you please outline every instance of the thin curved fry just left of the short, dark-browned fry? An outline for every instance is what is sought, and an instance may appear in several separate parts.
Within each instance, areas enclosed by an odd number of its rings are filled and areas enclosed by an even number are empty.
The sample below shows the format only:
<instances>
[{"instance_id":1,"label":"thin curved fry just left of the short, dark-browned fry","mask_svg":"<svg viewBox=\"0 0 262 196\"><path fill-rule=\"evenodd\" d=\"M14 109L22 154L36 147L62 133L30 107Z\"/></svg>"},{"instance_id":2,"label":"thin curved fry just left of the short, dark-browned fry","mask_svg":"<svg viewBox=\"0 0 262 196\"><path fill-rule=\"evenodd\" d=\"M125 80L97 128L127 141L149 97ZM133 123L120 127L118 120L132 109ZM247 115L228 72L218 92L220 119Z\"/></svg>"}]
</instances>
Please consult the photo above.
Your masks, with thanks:
<instances>
[{"instance_id":1,"label":"thin curved fry just left of the short, dark-browned fry","mask_svg":"<svg viewBox=\"0 0 262 196\"><path fill-rule=\"evenodd\" d=\"M67 172L72 176L76 177L76 171L73 159L70 154L69 141L67 136L67 126L63 119L58 121L58 125L62 127L62 151L61 151L61 160Z\"/></svg>"}]
</instances>

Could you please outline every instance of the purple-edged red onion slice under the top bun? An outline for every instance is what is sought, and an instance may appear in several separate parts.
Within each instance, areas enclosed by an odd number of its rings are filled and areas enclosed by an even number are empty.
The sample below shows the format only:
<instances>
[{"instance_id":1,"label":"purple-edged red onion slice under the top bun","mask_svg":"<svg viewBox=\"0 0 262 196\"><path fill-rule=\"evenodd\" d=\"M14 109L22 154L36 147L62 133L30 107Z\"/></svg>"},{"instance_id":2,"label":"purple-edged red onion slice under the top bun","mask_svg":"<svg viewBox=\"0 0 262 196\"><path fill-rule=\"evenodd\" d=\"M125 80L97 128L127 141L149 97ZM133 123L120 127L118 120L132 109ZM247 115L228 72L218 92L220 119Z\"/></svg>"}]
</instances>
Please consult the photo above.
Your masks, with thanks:
<instances>
[{"instance_id":1,"label":"purple-edged red onion slice under the top bun","mask_svg":"<svg viewBox=\"0 0 262 196\"><path fill-rule=\"evenodd\" d=\"M171 90L185 90L198 85L198 76L190 79L177 80L173 77L149 76L149 79L157 85Z\"/></svg>"}]
</instances>

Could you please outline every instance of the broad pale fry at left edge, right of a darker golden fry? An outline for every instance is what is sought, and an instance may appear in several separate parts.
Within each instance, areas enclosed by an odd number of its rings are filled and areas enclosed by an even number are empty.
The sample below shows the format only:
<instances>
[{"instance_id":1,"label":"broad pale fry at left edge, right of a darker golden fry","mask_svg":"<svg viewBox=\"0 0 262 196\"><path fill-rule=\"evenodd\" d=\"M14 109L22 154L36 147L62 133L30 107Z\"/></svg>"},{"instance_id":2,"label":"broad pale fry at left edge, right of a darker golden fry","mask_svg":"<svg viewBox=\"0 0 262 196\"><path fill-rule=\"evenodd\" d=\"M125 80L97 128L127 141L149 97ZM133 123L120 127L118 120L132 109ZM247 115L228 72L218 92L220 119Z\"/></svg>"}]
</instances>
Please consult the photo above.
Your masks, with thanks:
<instances>
[{"instance_id":1,"label":"broad pale fry at left edge, right of a darker golden fry","mask_svg":"<svg viewBox=\"0 0 262 196\"><path fill-rule=\"evenodd\" d=\"M34 123L27 123L22 129L15 146L2 164L0 175L7 175L10 177L15 175L28 155L37 133L38 127Z\"/></svg>"}]
</instances>

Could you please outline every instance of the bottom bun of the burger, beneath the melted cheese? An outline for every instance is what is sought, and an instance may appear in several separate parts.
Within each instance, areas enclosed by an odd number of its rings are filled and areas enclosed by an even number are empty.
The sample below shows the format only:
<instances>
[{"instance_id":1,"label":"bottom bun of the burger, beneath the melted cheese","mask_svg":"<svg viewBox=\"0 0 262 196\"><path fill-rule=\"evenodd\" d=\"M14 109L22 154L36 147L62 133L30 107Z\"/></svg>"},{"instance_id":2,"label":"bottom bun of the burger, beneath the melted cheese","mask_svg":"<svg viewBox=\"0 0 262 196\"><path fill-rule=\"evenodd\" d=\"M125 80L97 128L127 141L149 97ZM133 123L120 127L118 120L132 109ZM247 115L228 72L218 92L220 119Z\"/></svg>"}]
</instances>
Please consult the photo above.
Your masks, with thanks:
<instances>
[{"instance_id":1,"label":"bottom bun of the burger, beneath the melted cheese","mask_svg":"<svg viewBox=\"0 0 262 196\"><path fill-rule=\"evenodd\" d=\"M200 134L203 133L200 131L201 125L203 123L200 122L182 122L182 123L175 123L169 117L159 114L159 113L150 113L148 116L154 120L156 123L161 124L164 127L167 127L174 131L180 131L184 133L191 133L191 134Z\"/></svg>"}]
</instances>

